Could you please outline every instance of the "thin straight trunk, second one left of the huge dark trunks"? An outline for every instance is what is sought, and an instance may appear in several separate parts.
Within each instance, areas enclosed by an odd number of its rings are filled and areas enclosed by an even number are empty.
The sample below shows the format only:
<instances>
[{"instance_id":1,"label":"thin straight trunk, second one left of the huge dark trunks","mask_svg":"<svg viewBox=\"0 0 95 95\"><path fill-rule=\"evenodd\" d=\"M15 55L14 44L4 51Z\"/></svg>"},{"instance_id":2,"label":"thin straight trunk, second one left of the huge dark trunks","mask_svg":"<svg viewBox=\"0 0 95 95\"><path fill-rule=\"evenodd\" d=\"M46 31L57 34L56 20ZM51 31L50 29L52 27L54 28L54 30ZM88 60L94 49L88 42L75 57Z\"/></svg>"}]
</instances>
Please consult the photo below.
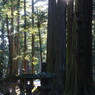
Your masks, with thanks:
<instances>
[{"instance_id":1,"label":"thin straight trunk, second one left of the huge dark trunks","mask_svg":"<svg viewBox=\"0 0 95 95\"><path fill-rule=\"evenodd\" d=\"M32 28L34 27L34 0L32 0ZM34 56L35 56L35 35L32 34L32 73L35 73L34 70Z\"/></svg>"}]
</instances>

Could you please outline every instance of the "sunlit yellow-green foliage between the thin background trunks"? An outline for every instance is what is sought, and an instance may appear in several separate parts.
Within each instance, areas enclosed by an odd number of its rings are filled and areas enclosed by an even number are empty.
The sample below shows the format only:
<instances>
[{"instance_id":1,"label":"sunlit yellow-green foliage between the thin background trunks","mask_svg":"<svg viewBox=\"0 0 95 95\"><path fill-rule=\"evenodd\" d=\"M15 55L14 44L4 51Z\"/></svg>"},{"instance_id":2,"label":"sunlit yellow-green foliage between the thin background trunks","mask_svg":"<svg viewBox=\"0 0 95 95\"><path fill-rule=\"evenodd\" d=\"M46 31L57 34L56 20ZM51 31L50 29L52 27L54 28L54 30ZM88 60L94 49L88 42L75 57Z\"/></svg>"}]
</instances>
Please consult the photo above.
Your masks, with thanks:
<instances>
[{"instance_id":1,"label":"sunlit yellow-green foliage between the thin background trunks","mask_svg":"<svg viewBox=\"0 0 95 95\"><path fill-rule=\"evenodd\" d=\"M35 1L35 5L38 2L42 2L40 0ZM39 33L38 33L38 21L40 22L40 30L41 30L41 39L42 39L42 54L43 54L43 61L46 61L46 38L47 38L47 9L42 10L39 5L36 5L34 7L35 13L31 14L32 6L30 5L31 1L26 2L26 28L24 24L24 2L23 0L20 0L20 6L18 6L17 0L7 0L6 2L1 1L0 2L0 21L4 22L4 53L3 50L0 49L0 56L3 54L4 64L7 64L9 62L9 39L8 39L8 31L6 27L6 15L8 15L8 24L9 24L9 31L10 35L13 35L14 39L14 54L13 61L18 62L18 64L22 64L23 58L25 57L25 60L29 61L31 64L31 60L34 60L35 70L38 72L39 69L39 63L40 63L40 46L39 46ZM37 8L36 8L37 7ZM12 11L13 9L13 16ZM18 15L19 10L19 15ZM18 16L19 16L19 32L18 32ZM32 27L32 17L34 17L35 23L34 27ZM13 25L11 24L11 20L13 18ZM14 28L14 32L11 33L11 26ZM0 25L0 30L2 31L2 26ZM0 32L1 32L0 31ZM24 56L24 32L26 32L26 39L27 39L27 51L26 56ZM35 34L35 57L31 57L32 55L32 34ZM2 35L2 33L1 33ZM19 38L18 38L19 36ZM1 38L1 36L0 36ZM17 40L19 39L19 54L17 54ZM1 41L3 39L0 39Z\"/></svg>"}]
</instances>

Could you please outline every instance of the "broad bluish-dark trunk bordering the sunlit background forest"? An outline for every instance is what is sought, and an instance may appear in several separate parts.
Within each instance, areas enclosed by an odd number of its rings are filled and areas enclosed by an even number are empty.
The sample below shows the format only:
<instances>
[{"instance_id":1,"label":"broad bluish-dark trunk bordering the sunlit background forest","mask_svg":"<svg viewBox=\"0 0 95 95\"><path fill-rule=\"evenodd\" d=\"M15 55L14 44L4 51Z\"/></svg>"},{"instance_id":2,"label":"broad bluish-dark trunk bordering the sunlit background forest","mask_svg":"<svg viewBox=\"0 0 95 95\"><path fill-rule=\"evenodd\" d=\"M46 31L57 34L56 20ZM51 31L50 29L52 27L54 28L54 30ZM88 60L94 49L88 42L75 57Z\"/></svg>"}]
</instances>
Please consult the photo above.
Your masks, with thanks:
<instances>
[{"instance_id":1,"label":"broad bluish-dark trunk bordering the sunlit background forest","mask_svg":"<svg viewBox=\"0 0 95 95\"><path fill-rule=\"evenodd\" d=\"M66 1L49 0L47 69L55 72L53 95L62 95L66 65Z\"/></svg>"}]
</instances>

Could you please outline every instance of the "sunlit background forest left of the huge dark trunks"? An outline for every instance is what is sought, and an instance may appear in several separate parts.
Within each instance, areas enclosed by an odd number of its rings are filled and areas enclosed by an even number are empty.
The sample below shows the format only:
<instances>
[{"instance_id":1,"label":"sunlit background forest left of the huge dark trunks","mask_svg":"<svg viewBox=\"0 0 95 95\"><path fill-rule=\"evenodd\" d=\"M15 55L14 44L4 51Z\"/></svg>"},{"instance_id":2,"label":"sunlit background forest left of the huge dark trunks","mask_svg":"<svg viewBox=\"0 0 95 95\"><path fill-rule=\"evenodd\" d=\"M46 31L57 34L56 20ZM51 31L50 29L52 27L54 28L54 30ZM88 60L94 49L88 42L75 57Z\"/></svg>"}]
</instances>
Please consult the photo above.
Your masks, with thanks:
<instances>
[{"instance_id":1,"label":"sunlit background forest left of the huge dark trunks","mask_svg":"<svg viewBox=\"0 0 95 95\"><path fill-rule=\"evenodd\" d=\"M38 72L40 63L46 62L47 1L2 0L0 22L4 74L20 74L20 68L26 67L27 73L34 72L34 67Z\"/></svg>"}]
</instances>

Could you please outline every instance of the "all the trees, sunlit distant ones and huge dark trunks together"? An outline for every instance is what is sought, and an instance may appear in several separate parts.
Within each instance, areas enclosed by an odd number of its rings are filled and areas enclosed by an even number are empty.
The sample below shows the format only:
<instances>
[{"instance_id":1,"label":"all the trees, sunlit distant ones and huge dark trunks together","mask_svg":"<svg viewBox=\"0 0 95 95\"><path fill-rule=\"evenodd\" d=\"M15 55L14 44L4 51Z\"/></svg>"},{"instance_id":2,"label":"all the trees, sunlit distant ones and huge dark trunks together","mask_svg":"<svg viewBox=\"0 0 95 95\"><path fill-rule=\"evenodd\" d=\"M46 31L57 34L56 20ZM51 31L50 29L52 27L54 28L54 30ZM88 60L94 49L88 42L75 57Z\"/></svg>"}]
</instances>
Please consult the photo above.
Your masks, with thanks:
<instances>
[{"instance_id":1,"label":"all the trees, sunlit distant ones and huge dark trunks together","mask_svg":"<svg viewBox=\"0 0 95 95\"><path fill-rule=\"evenodd\" d=\"M95 0L0 0L0 77L42 63L50 95L94 95Z\"/></svg>"}]
</instances>

